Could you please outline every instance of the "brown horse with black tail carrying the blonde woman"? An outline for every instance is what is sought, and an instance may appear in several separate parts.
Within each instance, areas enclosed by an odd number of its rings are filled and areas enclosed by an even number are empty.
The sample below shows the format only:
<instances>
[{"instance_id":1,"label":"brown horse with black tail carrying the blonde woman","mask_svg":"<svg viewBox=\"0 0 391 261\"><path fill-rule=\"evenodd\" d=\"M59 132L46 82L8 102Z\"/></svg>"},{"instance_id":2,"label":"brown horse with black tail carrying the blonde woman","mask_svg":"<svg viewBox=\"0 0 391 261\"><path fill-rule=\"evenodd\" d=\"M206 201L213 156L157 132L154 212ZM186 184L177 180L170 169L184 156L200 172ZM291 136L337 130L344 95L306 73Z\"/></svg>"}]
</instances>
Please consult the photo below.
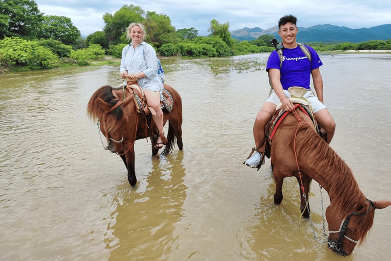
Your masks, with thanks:
<instances>
[{"instance_id":1,"label":"brown horse with black tail carrying the blonde woman","mask_svg":"<svg viewBox=\"0 0 391 261\"><path fill-rule=\"evenodd\" d=\"M169 85L164 85L173 101L171 112L163 109L163 124L169 121L167 133L168 143L162 154L168 155L176 144L180 150L182 143L182 100L181 96ZM158 130L151 121L151 117L143 117L137 112L134 95L129 89L100 87L92 96L87 105L87 114L95 122L100 122L100 131L108 141L108 149L118 153L127 168L127 178L132 187L136 185L135 174L135 140L151 137L152 156L158 153L154 144L158 139Z\"/></svg>"}]
</instances>

